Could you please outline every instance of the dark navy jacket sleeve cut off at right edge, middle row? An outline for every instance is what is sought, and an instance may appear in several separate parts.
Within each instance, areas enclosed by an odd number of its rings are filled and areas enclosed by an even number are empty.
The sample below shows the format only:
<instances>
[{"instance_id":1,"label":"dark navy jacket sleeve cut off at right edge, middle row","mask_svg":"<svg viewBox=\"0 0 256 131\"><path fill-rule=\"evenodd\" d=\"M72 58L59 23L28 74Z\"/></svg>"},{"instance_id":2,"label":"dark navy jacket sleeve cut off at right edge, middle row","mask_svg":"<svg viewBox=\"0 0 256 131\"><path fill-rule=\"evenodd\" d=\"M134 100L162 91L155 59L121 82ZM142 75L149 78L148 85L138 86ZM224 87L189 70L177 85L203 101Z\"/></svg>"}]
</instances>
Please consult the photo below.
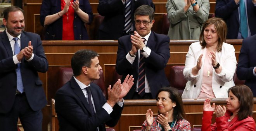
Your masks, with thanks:
<instances>
[{"instance_id":1,"label":"dark navy jacket sleeve cut off at right edge, middle row","mask_svg":"<svg viewBox=\"0 0 256 131\"><path fill-rule=\"evenodd\" d=\"M247 37L242 42L237 65L237 77L246 80L245 85L249 86L256 97L256 76L253 75L253 68L256 66L256 35Z\"/></svg>"}]
</instances>

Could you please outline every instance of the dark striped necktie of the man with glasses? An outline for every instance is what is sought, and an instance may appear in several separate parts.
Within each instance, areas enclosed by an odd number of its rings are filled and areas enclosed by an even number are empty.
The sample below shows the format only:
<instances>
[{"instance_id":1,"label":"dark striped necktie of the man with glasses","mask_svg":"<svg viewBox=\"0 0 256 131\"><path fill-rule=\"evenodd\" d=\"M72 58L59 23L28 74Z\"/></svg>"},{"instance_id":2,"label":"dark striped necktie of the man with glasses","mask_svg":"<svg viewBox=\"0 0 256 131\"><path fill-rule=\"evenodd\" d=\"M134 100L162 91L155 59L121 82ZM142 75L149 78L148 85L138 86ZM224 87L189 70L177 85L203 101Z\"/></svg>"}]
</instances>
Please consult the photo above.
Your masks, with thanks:
<instances>
[{"instance_id":1,"label":"dark striped necktie of the man with glasses","mask_svg":"<svg viewBox=\"0 0 256 131\"><path fill-rule=\"evenodd\" d=\"M145 44L146 39L143 43ZM145 94L145 57L140 54L140 63L139 63L139 74L138 74L138 94L143 97Z\"/></svg>"}]
</instances>

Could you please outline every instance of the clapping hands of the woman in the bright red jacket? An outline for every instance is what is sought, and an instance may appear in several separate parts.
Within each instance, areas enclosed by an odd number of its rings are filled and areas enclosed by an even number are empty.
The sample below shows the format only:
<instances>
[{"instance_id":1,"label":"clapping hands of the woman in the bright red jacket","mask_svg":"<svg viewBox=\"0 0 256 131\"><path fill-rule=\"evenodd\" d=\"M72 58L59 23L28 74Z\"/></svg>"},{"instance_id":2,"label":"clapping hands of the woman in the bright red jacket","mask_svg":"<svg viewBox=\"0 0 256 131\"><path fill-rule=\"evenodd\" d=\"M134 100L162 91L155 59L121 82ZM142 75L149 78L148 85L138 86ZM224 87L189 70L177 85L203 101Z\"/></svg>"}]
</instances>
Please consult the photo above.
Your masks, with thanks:
<instances>
[{"instance_id":1,"label":"clapping hands of the woman in the bright red jacket","mask_svg":"<svg viewBox=\"0 0 256 131\"><path fill-rule=\"evenodd\" d=\"M224 116L227 111L225 106L223 106L223 107L216 106L215 107L215 103L213 103L213 107L211 107L211 99L209 99L209 98L205 99L203 110L204 111L214 111L217 118Z\"/></svg>"}]
</instances>

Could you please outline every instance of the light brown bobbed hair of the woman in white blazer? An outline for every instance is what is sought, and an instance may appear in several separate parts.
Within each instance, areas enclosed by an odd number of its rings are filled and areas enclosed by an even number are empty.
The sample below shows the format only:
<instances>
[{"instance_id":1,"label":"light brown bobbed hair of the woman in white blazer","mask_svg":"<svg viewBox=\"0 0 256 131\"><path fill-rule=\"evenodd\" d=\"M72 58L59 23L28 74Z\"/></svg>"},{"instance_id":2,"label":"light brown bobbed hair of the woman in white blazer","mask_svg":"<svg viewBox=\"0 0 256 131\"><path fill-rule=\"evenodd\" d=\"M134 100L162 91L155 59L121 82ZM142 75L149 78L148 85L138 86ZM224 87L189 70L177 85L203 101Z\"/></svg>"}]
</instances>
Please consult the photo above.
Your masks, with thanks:
<instances>
[{"instance_id":1,"label":"light brown bobbed hair of the woman in white blazer","mask_svg":"<svg viewBox=\"0 0 256 131\"><path fill-rule=\"evenodd\" d=\"M204 25L202 27L199 41L200 41L200 44L202 45L202 49L204 49L206 47L206 42L204 40L204 29L212 24L214 25L216 32L219 36L218 45L217 45L217 51L219 52L222 50L223 42L226 42L226 36L227 36L227 25L225 21L222 20L222 18L213 17L206 20L206 22L204 22Z\"/></svg>"}]
</instances>

